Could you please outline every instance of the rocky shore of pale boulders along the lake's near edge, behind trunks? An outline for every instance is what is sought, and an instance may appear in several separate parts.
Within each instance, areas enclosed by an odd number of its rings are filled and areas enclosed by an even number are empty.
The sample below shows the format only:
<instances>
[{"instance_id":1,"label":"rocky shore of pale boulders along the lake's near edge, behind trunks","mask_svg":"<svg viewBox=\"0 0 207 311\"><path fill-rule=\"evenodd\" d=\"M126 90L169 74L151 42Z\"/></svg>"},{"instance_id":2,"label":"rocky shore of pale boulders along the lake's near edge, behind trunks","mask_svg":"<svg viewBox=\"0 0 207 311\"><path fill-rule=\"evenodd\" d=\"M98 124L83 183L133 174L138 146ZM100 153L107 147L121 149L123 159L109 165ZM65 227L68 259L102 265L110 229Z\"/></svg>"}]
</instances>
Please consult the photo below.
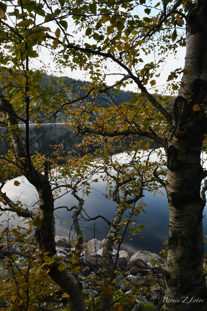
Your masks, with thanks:
<instances>
[{"instance_id":1,"label":"rocky shore of pale boulders along the lake's near edge, behind trunks","mask_svg":"<svg viewBox=\"0 0 207 311\"><path fill-rule=\"evenodd\" d=\"M24 231L24 230L22 230ZM26 231L26 230L25 230ZM24 236L24 232L22 232ZM10 240L12 236L10 235ZM34 234L25 236L24 239L30 245L35 245ZM65 261L69 260L68 253L75 251L74 245L70 244L69 238L56 236L56 252L57 256L63 256ZM83 286L83 294L86 298L94 298L99 295L100 276L98 271L101 269L101 256L103 251L104 240L97 241L92 239L83 244L79 265L81 269L78 273L79 281ZM19 252L18 245L2 241L1 258L12 252ZM118 245L113 245L113 264L117 258ZM69 257L68 257L69 256ZM147 310L146 304L158 304L163 300L164 296L164 270L166 268L164 260L148 251L139 251L129 256L125 250L119 250L116 267L117 275L115 277L115 290L120 290L126 294L134 294L134 289L143 286L143 293L136 296L136 305L131 311ZM93 280L93 281L92 281ZM134 289L133 285L135 285ZM135 291L136 292L136 291Z\"/></svg>"}]
</instances>

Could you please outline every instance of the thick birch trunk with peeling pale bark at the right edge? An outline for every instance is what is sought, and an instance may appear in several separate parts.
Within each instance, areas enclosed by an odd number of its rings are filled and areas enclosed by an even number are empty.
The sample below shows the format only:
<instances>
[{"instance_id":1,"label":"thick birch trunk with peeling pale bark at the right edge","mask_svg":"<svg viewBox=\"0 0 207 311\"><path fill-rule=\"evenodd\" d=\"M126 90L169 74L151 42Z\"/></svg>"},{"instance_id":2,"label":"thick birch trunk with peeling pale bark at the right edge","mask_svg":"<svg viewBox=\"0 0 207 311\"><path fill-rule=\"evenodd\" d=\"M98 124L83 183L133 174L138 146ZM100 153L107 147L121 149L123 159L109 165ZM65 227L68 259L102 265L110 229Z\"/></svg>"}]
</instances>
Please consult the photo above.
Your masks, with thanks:
<instances>
[{"instance_id":1,"label":"thick birch trunk with peeling pale bark at the right edge","mask_svg":"<svg viewBox=\"0 0 207 311\"><path fill-rule=\"evenodd\" d=\"M200 152L207 133L206 16L206 1L189 4L185 68L190 75L183 76L166 147L170 217L166 311L207 310L202 226L205 202L200 196L201 181L206 176L200 165Z\"/></svg>"}]
</instances>

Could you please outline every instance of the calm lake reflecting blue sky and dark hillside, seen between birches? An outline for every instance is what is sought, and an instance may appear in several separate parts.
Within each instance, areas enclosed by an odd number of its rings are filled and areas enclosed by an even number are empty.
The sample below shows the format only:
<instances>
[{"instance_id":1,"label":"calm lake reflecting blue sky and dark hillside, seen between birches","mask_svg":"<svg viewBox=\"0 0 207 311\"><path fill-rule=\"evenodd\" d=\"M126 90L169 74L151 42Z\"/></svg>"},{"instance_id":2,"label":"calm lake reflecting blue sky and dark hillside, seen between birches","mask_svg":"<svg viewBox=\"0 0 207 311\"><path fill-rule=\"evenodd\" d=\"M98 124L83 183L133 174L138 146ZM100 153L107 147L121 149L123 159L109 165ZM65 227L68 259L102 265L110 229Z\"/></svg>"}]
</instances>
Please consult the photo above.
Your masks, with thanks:
<instances>
[{"instance_id":1,"label":"calm lake reflecting blue sky and dark hillside, seen between birches","mask_svg":"<svg viewBox=\"0 0 207 311\"><path fill-rule=\"evenodd\" d=\"M0 129L1 134L3 129ZM48 145L55 145L62 143L65 150L78 151L77 147L74 147L74 143L80 141L81 138L74 138L72 133L67 129L63 128L62 125L46 126L39 129L34 129L31 127L30 143L33 150L37 150L42 153L50 153L52 147L48 148ZM8 144L5 141L1 143L1 154L7 151ZM123 155L124 156L124 155ZM3 188L3 191L7 193L12 200L17 199L22 202L22 204L31 205L32 202L37 200L36 189L29 184L23 178L17 178L17 180L22 180L23 183L16 187L13 181L8 181ZM91 189L89 196L84 197L83 208L86 210L90 217L95 217L97 215L102 215L106 217L109 221L112 220L116 204L111 200L103 196L106 193L106 185L100 179L96 183L96 189ZM138 250L147 250L152 253L159 253L163 249L163 242L168 239L169 234L169 210L167 196L162 194L145 193L145 197L142 198L147 206L145 207L146 214L140 213L137 217L137 224L142 224L145 226L142 229L143 239L140 237L134 238L132 241L127 241L125 238L125 244L123 249L131 253L135 253ZM77 200L70 195L70 193L57 199L55 201L55 207L67 206L72 207L77 205ZM73 223L72 212L68 212L66 209L60 209L55 212L56 214L56 235L69 236L74 233L71 230L71 225ZM207 214L207 208L204 209L204 215ZM6 220L11 218L11 216L2 215L1 220ZM16 225L16 220L11 219L12 224ZM86 222L81 220L80 225L82 226L82 232L86 235L86 240L92 239L94 236L98 240L102 240L106 237L108 231L108 225L102 219L91 220ZM204 235L207 235L207 216L203 219L204 225Z\"/></svg>"}]
</instances>

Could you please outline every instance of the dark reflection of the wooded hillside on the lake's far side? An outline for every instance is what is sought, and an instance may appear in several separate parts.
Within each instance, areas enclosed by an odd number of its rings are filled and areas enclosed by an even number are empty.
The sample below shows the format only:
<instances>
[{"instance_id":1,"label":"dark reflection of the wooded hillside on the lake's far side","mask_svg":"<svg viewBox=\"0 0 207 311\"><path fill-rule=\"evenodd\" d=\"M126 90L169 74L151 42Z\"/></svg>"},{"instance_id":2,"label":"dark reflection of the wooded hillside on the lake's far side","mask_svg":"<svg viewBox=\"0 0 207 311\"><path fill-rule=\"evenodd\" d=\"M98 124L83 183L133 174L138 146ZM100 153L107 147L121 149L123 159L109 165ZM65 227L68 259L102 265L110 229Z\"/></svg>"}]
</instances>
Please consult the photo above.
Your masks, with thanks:
<instances>
[{"instance_id":1,"label":"dark reflection of the wooded hillside on the lake's far side","mask_svg":"<svg viewBox=\"0 0 207 311\"><path fill-rule=\"evenodd\" d=\"M21 128L25 128L20 126ZM0 134L5 133L5 129L0 129ZM25 134L23 134L25 137ZM50 145L63 145L63 150L79 151L75 146L75 143L81 142L81 137L73 137L72 131L68 128L64 128L63 125L48 125L35 129L30 127L30 150L38 151L42 154L51 153L54 148ZM0 153L4 155L9 149L9 143L6 140L0 142Z\"/></svg>"}]
</instances>

